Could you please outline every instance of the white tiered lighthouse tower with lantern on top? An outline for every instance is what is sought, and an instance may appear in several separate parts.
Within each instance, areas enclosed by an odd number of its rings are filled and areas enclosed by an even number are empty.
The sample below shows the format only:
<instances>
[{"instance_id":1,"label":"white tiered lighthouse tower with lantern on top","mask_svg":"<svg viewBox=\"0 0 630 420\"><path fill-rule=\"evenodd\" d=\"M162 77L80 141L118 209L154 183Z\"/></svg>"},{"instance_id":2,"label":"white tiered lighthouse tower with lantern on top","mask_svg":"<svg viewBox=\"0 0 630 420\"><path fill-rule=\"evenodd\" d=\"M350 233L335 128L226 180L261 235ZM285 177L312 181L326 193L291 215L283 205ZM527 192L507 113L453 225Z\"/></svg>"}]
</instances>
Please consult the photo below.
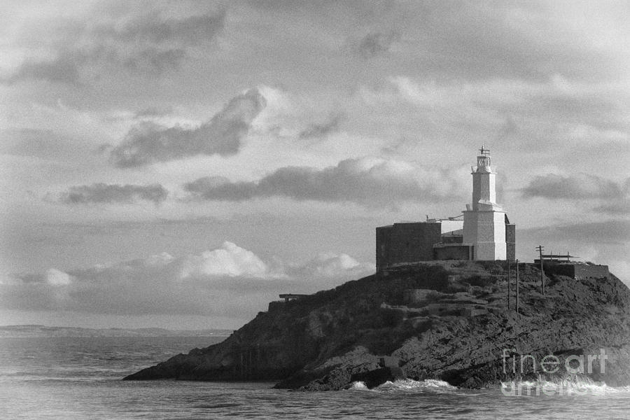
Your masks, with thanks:
<instances>
[{"instance_id":1,"label":"white tiered lighthouse tower with lantern on top","mask_svg":"<svg viewBox=\"0 0 630 420\"><path fill-rule=\"evenodd\" d=\"M505 260L505 211L496 204L496 172L490 165L490 151L479 150L472 167L472 204L463 211L463 244L472 245L473 260Z\"/></svg>"}]
</instances>

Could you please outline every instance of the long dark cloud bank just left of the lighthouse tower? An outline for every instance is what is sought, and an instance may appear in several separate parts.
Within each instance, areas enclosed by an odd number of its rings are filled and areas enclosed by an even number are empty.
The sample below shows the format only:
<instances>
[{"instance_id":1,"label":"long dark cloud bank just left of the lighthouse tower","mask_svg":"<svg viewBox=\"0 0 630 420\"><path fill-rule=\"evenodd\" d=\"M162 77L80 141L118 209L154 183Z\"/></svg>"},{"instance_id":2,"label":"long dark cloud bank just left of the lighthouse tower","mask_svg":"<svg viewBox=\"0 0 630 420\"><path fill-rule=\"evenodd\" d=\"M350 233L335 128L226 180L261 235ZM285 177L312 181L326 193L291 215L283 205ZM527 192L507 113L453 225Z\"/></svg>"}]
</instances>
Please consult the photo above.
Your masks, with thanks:
<instances>
[{"instance_id":1,"label":"long dark cloud bank just left of the lighthouse tower","mask_svg":"<svg viewBox=\"0 0 630 420\"><path fill-rule=\"evenodd\" d=\"M230 182L212 176L186 183L198 200L244 201L257 197L356 202L367 207L409 200L443 200L456 181L448 172L380 158L342 160L335 167L283 167L258 181Z\"/></svg>"}]
</instances>

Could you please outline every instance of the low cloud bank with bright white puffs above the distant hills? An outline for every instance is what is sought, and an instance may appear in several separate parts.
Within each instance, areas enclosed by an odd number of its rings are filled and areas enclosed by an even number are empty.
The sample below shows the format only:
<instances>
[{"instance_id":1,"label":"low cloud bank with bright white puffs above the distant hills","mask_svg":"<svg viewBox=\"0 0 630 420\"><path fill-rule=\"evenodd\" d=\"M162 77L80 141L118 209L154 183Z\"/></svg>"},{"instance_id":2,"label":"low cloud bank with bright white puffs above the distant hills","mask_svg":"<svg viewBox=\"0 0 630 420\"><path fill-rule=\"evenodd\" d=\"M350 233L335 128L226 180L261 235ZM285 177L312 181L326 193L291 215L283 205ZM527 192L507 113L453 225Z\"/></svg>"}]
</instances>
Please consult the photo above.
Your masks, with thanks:
<instances>
[{"instance_id":1,"label":"low cloud bank with bright white puffs above the distant hills","mask_svg":"<svg viewBox=\"0 0 630 420\"><path fill-rule=\"evenodd\" d=\"M160 253L67 272L6 276L0 278L0 309L247 319L286 290L313 293L373 268L343 253L321 254L301 265L265 262L225 241L198 255Z\"/></svg>"}]
</instances>

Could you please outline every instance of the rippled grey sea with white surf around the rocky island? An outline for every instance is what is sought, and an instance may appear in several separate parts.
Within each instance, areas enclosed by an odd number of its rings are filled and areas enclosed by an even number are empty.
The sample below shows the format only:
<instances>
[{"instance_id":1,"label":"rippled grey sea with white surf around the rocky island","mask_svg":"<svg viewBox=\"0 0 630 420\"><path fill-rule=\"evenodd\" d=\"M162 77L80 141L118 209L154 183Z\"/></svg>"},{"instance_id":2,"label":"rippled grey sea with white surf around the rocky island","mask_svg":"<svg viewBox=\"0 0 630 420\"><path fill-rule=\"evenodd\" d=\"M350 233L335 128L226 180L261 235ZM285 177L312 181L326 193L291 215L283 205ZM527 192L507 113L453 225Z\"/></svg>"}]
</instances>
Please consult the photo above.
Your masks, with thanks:
<instances>
[{"instance_id":1,"label":"rippled grey sea with white surf around the rocky island","mask_svg":"<svg viewBox=\"0 0 630 420\"><path fill-rule=\"evenodd\" d=\"M224 337L0 337L0 419L630 419L630 388L539 381L458 389L443 381L345 391L269 382L122 381Z\"/></svg>"}]
</instances>

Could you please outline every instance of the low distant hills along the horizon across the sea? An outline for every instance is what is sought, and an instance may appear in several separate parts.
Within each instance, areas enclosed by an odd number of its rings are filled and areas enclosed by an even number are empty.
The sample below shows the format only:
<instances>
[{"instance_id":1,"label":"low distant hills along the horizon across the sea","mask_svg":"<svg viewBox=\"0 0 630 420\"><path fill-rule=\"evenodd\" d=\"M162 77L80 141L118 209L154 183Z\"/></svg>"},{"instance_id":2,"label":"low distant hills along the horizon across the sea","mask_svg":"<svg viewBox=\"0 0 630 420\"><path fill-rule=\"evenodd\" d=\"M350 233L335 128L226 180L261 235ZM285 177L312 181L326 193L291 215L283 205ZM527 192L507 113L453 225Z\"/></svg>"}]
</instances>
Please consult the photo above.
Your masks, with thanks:
<instances>
[{"instance_id":1,"label":"low distant hills along the horizon across the sea","mask_svg":"<svg viewBox=\"0 0 630 420\"><path fill-rule=\"evenodd\" d=\"M2 325L2 337L228 337L232 330L167 330L165 328L79 328L46 325Z\"/></svg>"}]
</instances>

